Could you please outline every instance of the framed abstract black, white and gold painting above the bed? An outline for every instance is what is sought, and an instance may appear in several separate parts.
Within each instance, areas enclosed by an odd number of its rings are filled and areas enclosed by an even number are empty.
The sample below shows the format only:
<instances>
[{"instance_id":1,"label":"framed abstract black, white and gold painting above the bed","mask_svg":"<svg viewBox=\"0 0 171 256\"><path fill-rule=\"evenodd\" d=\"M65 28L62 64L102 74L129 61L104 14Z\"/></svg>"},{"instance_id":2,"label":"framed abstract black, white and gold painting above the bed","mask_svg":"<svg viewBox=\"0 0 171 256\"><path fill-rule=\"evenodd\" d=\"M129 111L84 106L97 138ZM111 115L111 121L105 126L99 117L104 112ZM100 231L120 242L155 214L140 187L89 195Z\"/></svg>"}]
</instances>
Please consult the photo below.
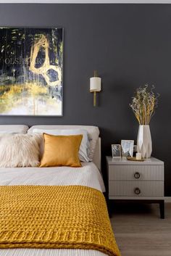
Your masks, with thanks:
<instances>
[{"instance_id":1,"label":"framed abstract black, white and gold painting above the bed","mask_svg":"<svg viewBox=\"0 0 171 256\"><path fill-rule=\"evenodd\" d=\"M0 115L62 116L63 28L0 28Z\"/></svg>"}]
</instances>

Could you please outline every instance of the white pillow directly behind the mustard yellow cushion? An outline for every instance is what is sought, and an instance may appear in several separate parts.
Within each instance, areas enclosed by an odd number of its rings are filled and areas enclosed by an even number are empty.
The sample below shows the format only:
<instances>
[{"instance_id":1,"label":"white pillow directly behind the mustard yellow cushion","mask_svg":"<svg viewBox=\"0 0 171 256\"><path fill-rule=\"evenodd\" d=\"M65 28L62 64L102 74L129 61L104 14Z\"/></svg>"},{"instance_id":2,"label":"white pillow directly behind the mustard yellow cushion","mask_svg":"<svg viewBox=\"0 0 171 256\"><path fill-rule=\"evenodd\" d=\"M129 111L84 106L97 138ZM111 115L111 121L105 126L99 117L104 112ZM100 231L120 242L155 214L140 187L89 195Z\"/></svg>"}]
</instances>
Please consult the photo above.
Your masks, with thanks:
<instances>
[{"instance_id":1,"label":"white pillow directly behind the mustard yellow cushion","mask_svg":"<svg viewBox=\"0 0 171 256\"><path fill-rule=\"evenodd\" d=\"M82 162L89 162L90 158L88 157L88 147L89 147L89 141L88 141L88 132L86 130L82 129L73 129L73 130L43 130L43 129L33 129L33 133L48 133L51 135L78 135L78 134L83 134L83 139L80 144L80 149L79 149L79 158L80 161ZM40 146L40 151L41 154L43 154L43 149L44 149L44 141L42 140L41 146Z\"/></svg>"}]
</instances>

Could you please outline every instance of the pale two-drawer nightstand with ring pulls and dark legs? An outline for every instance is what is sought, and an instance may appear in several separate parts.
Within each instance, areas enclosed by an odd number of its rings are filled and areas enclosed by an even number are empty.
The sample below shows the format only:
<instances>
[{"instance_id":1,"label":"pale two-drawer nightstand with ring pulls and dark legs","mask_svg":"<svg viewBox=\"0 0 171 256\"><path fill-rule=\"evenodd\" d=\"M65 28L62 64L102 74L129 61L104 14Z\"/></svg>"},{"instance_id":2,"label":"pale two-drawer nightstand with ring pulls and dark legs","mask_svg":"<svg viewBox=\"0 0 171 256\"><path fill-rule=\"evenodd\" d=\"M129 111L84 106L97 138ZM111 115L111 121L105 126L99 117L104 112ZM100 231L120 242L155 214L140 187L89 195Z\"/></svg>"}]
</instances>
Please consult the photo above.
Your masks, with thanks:
<instances>
[{"instance_id":1,"label":"pale two-drawer nightstand with ring pulls and dark legs","mask_svg":"<svg viewBox=\"0 0 171 256\"><path fill-rule=\"evenodd\" d=\"M143 162L107 157L109 200L159 203L164 218L164 162L151 157Z\"/></svg>"}]
</instances>

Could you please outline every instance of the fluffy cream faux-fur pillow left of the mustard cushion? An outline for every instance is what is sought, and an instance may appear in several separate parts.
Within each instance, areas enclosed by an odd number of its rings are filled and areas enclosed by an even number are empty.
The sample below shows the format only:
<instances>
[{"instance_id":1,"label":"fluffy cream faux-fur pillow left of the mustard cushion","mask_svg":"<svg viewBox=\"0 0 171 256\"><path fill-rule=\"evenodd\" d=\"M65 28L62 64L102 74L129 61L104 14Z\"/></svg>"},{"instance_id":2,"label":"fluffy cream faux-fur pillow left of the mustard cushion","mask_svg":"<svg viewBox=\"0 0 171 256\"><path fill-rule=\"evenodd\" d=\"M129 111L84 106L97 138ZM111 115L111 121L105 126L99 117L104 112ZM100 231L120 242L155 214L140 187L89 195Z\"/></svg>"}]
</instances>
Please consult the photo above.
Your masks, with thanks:
<instances>
[{"instance_id":1,"label":"fluffy cream faux-fur pillow left of the mustard cushion","mask_svg":"<svg viewBox=\"0 0 171 256\"><path fill-rule=\"evenodd\" d=\"M36 167L39 162L41 136L6 134L0 140L0 167Z\"/></svg>"}]
</instances>

